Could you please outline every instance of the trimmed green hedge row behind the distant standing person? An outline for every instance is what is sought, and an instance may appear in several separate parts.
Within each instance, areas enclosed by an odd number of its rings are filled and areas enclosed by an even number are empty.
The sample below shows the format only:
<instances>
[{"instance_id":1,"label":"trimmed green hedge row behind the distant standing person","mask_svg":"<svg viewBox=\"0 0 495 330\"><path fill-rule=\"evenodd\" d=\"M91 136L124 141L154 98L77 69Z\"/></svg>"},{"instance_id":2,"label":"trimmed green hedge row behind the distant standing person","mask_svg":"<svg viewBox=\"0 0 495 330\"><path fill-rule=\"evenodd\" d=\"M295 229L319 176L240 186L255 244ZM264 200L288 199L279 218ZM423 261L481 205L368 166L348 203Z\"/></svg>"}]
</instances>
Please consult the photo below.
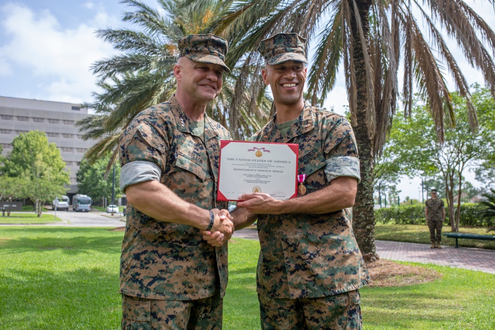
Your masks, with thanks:
<instances>
[{"instance_id":1,"label":"trimmed green hedge row behind the distant standing person","mask_svg":"<svg viewBox=\"0 0 495 330\"><path fill-rule=\"evenodd\" d=\"M483 206L477 203L461 204L461 216L459 226L494 226L493 218L482 219L479 214ZM447 224L450 223L448 209L445 208ZM406 205L380 208L375 210L376 221L389 223L391 221L398 225L426 225L424 205Z\"/></svg>"}]
</instances>

